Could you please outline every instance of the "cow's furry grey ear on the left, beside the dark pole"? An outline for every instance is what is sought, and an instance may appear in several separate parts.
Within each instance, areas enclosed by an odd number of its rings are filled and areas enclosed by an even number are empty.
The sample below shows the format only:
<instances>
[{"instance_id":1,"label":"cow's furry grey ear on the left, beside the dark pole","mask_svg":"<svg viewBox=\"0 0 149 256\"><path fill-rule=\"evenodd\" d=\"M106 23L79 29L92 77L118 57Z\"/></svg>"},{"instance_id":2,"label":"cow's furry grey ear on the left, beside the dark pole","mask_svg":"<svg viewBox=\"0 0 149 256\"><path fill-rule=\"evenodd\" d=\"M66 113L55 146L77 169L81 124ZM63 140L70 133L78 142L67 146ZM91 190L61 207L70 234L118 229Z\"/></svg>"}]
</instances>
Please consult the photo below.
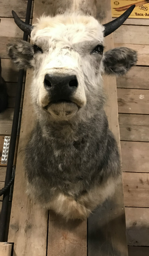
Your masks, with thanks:
<instances>
[{"instance_id":1,"label":"cow's furry grey ear on the left, beside the dark pole","mask_svg":"<svg viewBox=\"0 0 149 256\"><path fill-rule=\"evenodd\" d=\"M8 44L8 55L20 69L33 67L33 46L23 40Z\"/></svg>"}]
</instances>

